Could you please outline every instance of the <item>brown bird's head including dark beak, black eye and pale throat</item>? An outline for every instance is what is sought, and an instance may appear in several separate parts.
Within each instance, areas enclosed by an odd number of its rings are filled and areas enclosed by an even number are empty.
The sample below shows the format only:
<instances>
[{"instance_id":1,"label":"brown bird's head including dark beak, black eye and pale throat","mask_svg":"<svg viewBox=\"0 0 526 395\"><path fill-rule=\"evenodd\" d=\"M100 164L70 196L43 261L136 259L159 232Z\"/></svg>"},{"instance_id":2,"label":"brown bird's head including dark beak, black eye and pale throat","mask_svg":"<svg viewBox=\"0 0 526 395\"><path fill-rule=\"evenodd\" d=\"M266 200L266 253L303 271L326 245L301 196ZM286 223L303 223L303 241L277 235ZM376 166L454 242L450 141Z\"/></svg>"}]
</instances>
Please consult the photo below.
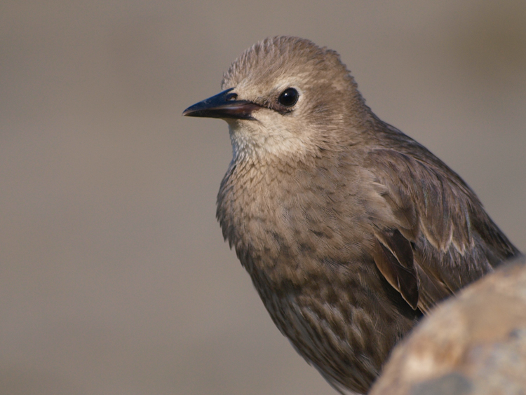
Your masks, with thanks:
<instances>
[{"instance_id":1,"label":"brown bird's head including dark beak, black eye and pale throat","mask_svg":"<svg viewBox=\"0 0 526 395\"><path fill-rule=\"evenodd\" d=\"M290 36L245 50L224 74L222 92L183 113L226 120L234 158L257 160L337 149L357 138L367 114L339 55Z\"/></svg>"}]
</instances>

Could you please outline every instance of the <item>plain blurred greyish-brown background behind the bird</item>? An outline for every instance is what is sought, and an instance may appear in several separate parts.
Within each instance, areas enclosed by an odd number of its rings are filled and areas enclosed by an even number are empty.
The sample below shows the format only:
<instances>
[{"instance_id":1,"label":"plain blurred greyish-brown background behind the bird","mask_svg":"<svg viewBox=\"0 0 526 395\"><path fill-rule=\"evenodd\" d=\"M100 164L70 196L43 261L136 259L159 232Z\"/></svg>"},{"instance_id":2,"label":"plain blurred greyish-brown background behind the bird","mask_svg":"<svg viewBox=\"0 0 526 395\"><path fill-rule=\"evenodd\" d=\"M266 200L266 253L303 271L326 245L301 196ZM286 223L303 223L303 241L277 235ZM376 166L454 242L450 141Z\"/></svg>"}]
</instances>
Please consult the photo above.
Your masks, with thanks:
<instances>
[{"instance_id":1,"label":"plain blurred greyish-brown background behind the bird","mask_svg":"<svg viewBox=\"0 0 526 395\"><path fill-rule=\"evenodd\" d=\"M0 10L0 394L335 394L222 240L226 123L181 117L267 36L338 50L526 250L523 0Z\"/></svg>"}]
</instances>

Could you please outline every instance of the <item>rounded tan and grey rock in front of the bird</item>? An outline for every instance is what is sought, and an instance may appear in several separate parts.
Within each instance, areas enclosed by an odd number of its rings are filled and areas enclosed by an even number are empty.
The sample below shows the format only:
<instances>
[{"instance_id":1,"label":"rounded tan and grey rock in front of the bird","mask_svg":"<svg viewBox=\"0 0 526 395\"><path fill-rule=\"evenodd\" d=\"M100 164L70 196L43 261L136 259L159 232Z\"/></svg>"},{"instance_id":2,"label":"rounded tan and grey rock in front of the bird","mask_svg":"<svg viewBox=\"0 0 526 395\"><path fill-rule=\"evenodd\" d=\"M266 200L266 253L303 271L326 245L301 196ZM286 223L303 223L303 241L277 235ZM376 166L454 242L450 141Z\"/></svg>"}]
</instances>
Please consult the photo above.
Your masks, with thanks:
<instances>
[{"instance_id":1,"label":"rounded tan and grey rock in front of the bird","mask_svg":"<svg viewBox=\"0 0 526 395\"><path fill-rule=\"evenodd\" d=\"M370 395L525 395L525 263L439 305L393 350Z\"/></svg>"}]
</instances>

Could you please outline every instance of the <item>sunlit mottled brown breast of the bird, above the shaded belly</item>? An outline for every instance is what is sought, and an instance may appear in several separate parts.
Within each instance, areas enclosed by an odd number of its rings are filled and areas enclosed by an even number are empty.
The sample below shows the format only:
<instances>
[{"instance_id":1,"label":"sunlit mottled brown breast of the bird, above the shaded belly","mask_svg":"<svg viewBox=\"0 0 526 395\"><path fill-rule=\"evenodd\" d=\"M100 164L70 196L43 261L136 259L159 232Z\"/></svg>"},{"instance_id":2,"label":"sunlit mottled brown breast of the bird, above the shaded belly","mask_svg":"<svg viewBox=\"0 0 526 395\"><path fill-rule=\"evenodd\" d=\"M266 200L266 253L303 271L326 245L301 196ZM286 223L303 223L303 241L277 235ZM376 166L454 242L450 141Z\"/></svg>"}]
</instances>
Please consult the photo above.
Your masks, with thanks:
<instances>
[{"instance_id":1,"label":"sunlit mottled brown breast of the bird, above the shaded belly","mask_svg":"<svg viewBox=\"0 0 526 395\"><path fill-rule=\"evenodd\" d=\"M227 172L217 216L253 281L302 286L365 259L372 231L365 229L363 198L341 174L250 170L236 165Z\"/></svg>"}]
</instances>

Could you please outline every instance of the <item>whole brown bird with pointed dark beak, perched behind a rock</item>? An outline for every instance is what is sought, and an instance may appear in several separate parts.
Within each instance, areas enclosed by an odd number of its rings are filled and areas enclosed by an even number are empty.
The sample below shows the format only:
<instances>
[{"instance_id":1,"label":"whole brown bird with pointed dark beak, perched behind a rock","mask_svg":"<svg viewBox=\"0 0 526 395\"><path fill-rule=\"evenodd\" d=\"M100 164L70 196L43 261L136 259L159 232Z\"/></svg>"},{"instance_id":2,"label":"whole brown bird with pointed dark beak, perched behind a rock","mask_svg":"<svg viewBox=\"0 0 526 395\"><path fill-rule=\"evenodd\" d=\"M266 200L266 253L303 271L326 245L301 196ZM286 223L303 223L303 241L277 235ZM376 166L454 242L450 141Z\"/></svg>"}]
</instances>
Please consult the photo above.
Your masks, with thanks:
<instances>
[{"instance_id":1,"label":"whole brown bird with pointed dark beak, perched behind a rock","mask_svg":"<svg viewBox=\"0 0 526 395\"><path fill-rule=\"evenodd\" d=\"M183 115L227 121L224 239L342 394L365 394L424 314L520 254L459 175L372 112L334 50L259 41Z\"/></svg>"}]
</instances>

